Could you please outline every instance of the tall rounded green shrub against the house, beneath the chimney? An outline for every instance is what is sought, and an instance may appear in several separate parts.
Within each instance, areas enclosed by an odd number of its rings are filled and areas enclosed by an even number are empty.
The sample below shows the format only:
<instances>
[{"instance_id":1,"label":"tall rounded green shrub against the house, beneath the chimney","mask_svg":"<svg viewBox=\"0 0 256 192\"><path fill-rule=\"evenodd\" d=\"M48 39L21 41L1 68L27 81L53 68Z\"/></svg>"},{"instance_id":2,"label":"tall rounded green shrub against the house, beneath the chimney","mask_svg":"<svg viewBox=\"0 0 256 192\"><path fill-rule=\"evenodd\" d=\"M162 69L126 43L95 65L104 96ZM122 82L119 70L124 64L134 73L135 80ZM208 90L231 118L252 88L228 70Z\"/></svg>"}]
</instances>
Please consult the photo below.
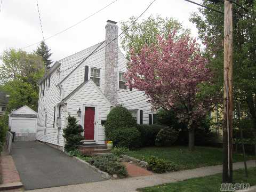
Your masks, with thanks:
<instances>
[{"instance_id":1,"label":"tall rounded green shrub against the house, beneath the chimney","mask_svg":"<svg viewBox=\"0 0 256 192\"><path fill-rule=\"evenodd\" d=\"M105 123L105 134L106 137L111 140L110 132L123 128L131 128L136 127L137 122L132 117L129 110L127 110L122 105L116 106L115 108L111 109L108 116L107 121Z\"/></svg>"}]
</instances>

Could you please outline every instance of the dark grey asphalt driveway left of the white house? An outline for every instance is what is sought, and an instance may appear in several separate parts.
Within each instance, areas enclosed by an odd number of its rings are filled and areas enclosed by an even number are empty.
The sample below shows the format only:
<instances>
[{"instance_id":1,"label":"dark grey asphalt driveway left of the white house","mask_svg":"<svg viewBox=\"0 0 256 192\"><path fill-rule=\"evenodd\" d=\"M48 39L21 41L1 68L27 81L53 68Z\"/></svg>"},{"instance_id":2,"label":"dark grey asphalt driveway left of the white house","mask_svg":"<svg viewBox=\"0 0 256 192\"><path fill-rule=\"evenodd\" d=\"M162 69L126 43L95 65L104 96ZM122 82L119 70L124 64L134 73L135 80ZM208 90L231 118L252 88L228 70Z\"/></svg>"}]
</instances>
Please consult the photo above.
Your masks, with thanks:
<instances>
[{"instance_id":1,"label":"dark grey asphalt driveway left of the white house","mask_svg":"<svg viewBox=\"0 0 256 192\"><path fill-rule=\"evenodd\" d=\"M14 142L12 157L26 190L105 180L84 163L36 141Z\"/></svg>"}]
</instances>

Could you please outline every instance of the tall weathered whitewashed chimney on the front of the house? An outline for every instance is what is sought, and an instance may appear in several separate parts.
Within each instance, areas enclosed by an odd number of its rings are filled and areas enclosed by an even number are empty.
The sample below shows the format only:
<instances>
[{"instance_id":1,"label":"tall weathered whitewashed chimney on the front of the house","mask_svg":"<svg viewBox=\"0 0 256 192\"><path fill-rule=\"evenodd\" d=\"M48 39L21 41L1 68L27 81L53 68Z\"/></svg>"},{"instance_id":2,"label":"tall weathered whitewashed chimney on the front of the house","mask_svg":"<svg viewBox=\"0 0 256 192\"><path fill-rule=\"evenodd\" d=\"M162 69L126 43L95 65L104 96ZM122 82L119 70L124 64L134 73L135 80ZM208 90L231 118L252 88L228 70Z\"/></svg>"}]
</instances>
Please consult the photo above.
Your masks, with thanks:
<instances>
[{"instance_id":1,"label":"tall weathered whitewashed chimney on the front of the house","mask_svg":"<svg viewBox=\"0 0 256 192\"><path fill-rule=\"evenodd\" d=\"M115 21L107 20L105 47L105 85L104 94L111 105L117 103L117 77L118 77L118 26ZM116 38L116 39L115 39ZM113 41L113 39L115 39Z\"/></svg>"}]
</instances>

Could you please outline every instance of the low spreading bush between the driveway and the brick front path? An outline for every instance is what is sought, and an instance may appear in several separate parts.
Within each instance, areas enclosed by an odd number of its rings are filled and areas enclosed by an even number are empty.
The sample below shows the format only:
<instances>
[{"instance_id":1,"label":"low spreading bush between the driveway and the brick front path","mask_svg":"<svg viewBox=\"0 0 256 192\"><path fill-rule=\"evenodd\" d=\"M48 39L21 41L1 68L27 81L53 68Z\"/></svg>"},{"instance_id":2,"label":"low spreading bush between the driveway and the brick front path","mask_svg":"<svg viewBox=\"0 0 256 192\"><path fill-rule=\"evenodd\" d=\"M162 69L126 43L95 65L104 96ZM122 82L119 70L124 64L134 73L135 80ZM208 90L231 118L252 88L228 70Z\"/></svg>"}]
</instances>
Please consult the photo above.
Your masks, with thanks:
<instances>
[{"instance_id":1,"label":"low spreading bush between the driveway and the brick front path","mask_svg":"<svg viewBox=\"0 0 256 192\"><path fill-rule=\"evenodd\" d=\"M110 175L116 174L119 178L127 176L127 170L125 166L118 161L118 157L113 154L106 154L102 156L91 157L88 161L101 171L105 171Z\"/></svg>"}]
</instances>

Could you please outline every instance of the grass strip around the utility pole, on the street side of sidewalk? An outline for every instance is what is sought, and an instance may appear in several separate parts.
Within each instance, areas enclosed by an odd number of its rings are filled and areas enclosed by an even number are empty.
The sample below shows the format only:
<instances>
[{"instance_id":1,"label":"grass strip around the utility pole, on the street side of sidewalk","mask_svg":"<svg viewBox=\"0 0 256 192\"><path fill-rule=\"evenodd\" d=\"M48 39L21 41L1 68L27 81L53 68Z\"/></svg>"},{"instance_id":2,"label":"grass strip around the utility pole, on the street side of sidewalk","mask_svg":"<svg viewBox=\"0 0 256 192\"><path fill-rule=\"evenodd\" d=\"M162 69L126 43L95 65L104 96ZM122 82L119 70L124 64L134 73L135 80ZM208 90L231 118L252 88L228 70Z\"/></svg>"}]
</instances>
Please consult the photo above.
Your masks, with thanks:
<instances>
[{"instance_id":1,"label":"grass strip around the utility pole, on the street side of sidewalk","mask_svg":"<svg viewBox=\"0 0 256 192\"><path fill-rule=\"evenodd\" d=\"M249 178L245 178L244 170L233 172L233 183L250 183L250 186L256 185L256 167L250 168ZM166 183L154 187L137 189L142 192L217 192L220 191L222 174L215 174L202 178L188 179L174 183Z\"/></svg>"}]
</instances>

